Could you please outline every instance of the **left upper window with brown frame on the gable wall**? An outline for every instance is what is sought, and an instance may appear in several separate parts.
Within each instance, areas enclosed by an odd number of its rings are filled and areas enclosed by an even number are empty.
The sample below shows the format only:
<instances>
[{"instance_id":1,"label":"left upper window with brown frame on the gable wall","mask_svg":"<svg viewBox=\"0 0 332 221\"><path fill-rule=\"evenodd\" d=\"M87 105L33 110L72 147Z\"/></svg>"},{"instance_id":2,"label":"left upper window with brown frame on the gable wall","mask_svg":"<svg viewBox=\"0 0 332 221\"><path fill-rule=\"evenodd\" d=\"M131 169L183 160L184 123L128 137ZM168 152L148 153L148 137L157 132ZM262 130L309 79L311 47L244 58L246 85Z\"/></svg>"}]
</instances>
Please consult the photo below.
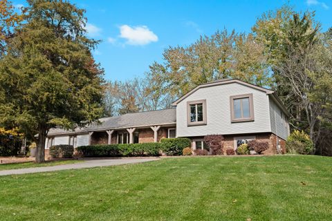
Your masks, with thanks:
<instances>
[{"instance_id":1,"label":"left upper window with brown frame on the gable wall","mask_svg":"<svg viewBox=\"0 0 332 221\"><path fill-rule=\"evenodd\" d=\"M187 102L187 125L206 124L206 101Z\"/></svg>"}]
</instances>

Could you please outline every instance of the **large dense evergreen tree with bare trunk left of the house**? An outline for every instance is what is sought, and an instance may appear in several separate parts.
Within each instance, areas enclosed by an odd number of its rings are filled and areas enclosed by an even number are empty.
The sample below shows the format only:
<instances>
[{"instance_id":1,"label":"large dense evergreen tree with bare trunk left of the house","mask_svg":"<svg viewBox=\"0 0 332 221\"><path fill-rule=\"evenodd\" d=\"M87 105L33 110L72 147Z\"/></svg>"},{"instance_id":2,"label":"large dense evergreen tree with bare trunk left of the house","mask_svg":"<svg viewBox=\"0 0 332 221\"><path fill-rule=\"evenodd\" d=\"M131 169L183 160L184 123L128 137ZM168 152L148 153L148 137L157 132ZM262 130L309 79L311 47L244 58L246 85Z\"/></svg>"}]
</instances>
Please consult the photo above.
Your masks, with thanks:
<instances>
[{"instance_id":1,"label":"large dense evergreen tree with bare trunk left of the house","mask_svg":"<svg viewBox=\"0 0 332 221\"><path fill-rule=\"evenodd\" d=\"M91 55L98 41L85 37L84 10L67 1L28 0L23 18L0 61L0 121L33 137L36 162L44 162L50 128L71 129L100 116L103 71Z\"/></svg>"}]
</instances>

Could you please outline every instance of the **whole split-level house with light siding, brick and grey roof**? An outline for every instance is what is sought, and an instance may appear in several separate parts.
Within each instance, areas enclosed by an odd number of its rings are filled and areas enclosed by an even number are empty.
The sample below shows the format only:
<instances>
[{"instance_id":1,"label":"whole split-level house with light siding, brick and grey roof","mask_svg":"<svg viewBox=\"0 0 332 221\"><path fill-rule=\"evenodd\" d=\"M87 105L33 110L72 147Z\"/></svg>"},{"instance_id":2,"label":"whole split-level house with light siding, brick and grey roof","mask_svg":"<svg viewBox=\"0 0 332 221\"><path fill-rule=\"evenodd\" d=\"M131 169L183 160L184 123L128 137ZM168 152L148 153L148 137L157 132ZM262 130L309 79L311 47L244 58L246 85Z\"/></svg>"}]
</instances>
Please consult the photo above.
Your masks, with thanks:
<instances>
[{"instance_id":1,"label":"whole split-level house with light siding, brick and grey roof","mask_svg":"<svg viewBox=\"0 0 332 221\"><path fill-rule=\"evenodd\" d=\"M238 79L201 84L173 103L174 108L128 113L100 119L74 131L49 131L52 145L74 147L93 144L159 142L163 137L189 137L192 148L205 148L205 135L225 137L225 148L236 149L249 140L264 140L266 154L284 150L290 114L273 90Z\"/></svg>"}]
</instances>

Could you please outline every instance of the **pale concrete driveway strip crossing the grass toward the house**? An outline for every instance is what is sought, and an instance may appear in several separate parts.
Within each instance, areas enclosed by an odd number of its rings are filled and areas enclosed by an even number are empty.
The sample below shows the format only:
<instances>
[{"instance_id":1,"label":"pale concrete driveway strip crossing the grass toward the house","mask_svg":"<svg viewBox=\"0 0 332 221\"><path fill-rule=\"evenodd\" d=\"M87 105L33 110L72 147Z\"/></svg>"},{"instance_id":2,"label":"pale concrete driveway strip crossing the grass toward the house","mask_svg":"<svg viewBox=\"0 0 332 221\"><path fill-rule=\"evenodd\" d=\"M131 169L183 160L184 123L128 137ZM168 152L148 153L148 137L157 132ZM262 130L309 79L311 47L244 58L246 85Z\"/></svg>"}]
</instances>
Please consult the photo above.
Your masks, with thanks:
<instances>
[{"instance_id":1,"label":"pale concrete driveway strip crossing the grass toward the house","mask_svg":"<svg viewBox=\"0 0 332 221\"><path fill-rule=\"evenodd\" d=\"M57 166L42 166L42 167L31 167L24 169L12 169L12 170L4 170L0 171L1 175L18 175L18 174L26 174L26 173L42 173L42 172L50 172L50 171L63 171L70 169L83 169L83 168L91 168L97 166L115 166L122 164L136 164L142 162L149 162L159 160L159 158L136 158L136 159L112 159L112 160L86 160L82 163L76 164L63 164Z\"/></svg>"}]
</instances>

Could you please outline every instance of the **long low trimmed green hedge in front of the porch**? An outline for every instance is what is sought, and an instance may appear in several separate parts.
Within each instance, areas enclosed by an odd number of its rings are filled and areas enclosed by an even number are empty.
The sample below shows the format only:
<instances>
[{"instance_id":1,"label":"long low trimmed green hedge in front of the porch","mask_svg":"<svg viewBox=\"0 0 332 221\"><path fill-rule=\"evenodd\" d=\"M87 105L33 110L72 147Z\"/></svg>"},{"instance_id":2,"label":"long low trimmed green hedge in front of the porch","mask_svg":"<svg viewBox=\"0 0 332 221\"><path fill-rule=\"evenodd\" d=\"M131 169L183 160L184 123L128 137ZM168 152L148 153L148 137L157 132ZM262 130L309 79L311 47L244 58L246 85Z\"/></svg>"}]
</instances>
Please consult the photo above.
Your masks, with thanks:
<instances>
[{"instance_id":1,"label":"long low trimmed green hedge in front of the porch","mask_svg":"<svg viewBox=\"0 0 332 221\"><path fill-rule=\"evenodd\" d=\"M161 147L160 143L110 144L78 146L77 151L83 157L138 157L158 156Z\"/></svg>"}]
</instances>

